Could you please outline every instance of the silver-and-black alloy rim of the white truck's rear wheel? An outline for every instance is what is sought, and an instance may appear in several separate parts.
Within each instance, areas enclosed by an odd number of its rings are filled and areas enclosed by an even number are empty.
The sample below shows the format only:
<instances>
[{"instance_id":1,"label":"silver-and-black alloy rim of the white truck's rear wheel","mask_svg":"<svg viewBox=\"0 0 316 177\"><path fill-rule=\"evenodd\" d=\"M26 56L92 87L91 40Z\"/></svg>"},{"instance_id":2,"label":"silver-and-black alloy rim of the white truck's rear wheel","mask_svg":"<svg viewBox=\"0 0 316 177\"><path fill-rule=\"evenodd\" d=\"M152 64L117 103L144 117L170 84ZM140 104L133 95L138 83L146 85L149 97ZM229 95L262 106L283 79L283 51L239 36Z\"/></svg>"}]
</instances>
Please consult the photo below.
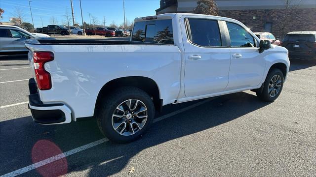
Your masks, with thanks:
<instances>
[{"instance_id":1,"label":"silver-and-black alloy rim of the white truck's rear wheel","mask_svg":"<svg viewBox=\"0 0 316 177\"><path fill-rule=\"evenodd\" d=\"M129 99L120 103L113 112L112 126L118 134L129 136L141 130L147 118L145 104L138 99Z\"/></svg>"}]
</instances>

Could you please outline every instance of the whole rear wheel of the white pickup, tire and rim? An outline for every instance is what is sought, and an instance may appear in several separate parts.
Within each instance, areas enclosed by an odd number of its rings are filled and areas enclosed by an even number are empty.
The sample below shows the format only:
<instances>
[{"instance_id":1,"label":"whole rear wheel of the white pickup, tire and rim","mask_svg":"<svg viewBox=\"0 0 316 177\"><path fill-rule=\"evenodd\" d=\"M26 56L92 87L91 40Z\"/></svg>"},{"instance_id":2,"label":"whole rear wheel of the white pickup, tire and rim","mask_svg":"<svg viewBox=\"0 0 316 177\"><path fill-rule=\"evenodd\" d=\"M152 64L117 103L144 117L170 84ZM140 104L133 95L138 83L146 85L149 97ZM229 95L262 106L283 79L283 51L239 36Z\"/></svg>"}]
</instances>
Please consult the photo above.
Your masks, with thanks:
<instances>
[{"instance_id":1,"label":"whole rear wheel of the white pickup, tire and rim","mask_svg":"<svg viewBox=\"0 0 316 177\"><path fill-rule=\"evenodd\" d=\"M155 109L150 96L134 87L122 87L100 103L97 123L111 141L128 143L138 139L152 124Z\"/></svg>"}]
</instances>

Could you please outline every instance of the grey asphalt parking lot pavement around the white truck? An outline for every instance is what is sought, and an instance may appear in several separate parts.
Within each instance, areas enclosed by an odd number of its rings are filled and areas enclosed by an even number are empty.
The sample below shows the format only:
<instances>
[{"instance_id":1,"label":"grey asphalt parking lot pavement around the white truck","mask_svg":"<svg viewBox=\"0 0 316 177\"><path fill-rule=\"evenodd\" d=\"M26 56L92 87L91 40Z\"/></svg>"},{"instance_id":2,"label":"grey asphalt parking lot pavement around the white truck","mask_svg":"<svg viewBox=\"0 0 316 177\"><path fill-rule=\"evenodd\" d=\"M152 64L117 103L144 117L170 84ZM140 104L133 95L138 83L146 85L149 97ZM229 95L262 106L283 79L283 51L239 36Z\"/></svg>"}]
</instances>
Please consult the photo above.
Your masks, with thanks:
<instances>
[{"instance_id":1,"label":"grey asphalt parking lot pavement around the white truck","mask_svg":"<svg viewBox=\"0 0 316 177\"><path fill-rule=\"evenodd\" d=\"M94 119L34 123L27 107L31 77L27 56L0 57L0 176L316 174L316 62L291 61L275 102L244 91L167 105L141 139L123 145L104 139Z\"/></svg>"}]
</instances>

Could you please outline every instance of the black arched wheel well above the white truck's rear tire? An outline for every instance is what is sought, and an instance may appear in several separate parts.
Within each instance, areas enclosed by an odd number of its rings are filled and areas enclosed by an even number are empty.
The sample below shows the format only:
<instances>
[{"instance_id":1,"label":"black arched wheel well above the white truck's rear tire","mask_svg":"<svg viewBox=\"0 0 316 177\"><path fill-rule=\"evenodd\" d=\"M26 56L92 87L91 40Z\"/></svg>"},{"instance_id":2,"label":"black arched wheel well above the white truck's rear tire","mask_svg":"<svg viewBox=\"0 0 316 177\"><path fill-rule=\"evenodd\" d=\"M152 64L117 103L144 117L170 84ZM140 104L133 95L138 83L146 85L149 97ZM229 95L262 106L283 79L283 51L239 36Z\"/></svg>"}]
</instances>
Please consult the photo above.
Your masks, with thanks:
<instances>
[{"instance_id":1,"label":"black arched wheel well above the white truck's rear tire","mask_svg":"<svg viewBox=\"0 0 316 177\"><path fill-rule=\"evenodd\" d=\"M122 77L106 83L98 94L95 110L97 110L97 106L100 105L99 103L104 96L110 94L115 89L124 86L132 86L144 90L153 99L155 108L161 110L162 99L160 99L159 89L156 82L150 78L141 76ZM94 114L95 113L96 111L94 111Z\"/></svg>"}]
</instances>

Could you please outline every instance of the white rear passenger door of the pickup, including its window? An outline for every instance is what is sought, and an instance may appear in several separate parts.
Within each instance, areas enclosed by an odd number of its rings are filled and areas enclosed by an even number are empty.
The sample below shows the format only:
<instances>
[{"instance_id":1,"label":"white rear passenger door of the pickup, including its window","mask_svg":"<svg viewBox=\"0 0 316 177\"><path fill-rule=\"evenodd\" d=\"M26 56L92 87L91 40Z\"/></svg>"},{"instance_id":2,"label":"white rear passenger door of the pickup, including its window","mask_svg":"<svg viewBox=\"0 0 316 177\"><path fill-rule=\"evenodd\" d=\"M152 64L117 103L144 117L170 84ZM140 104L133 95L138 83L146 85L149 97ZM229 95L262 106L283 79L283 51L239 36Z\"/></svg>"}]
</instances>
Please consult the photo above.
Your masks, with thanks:
<instances>
[{"instance_id":1,"label":"white rear passenger door of the pickup, including its window","mask_svg":"<svg viewBox=\"0 0 316 177\"><path fill-rule=\"evenodd\" d=\"M222 21L185 18L184 91L187 97L224 91L228 84L230 49L220 32ZM182 21L182 20L181 20ZM187 40L186 40L187 38Z\"/></svg>"}]
</instances>

